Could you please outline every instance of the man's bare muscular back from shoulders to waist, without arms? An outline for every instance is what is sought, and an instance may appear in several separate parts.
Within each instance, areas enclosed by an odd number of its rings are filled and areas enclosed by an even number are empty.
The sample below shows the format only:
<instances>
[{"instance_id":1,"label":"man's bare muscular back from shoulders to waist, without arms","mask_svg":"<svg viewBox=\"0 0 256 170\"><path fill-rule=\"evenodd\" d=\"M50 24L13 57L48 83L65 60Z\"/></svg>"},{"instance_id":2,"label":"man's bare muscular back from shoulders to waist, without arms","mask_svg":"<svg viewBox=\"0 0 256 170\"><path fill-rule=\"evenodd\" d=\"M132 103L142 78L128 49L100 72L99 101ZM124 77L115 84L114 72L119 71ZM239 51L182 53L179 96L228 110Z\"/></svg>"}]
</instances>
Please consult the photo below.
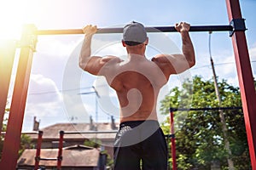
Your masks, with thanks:
<instances>
[{"instance_id":1,"label":"man's bare muscular back from shoulders to waist, without arms","mask_svg":"<svg viewBox=\"0 0 256 170\"><path fill-rule=\"evenodd\" d=\"M143 56L114 60L106 65L104 76L118 95L120 122L157 120L157 96L167 82L160 67Z\"/></svg>"}]
</instances>

